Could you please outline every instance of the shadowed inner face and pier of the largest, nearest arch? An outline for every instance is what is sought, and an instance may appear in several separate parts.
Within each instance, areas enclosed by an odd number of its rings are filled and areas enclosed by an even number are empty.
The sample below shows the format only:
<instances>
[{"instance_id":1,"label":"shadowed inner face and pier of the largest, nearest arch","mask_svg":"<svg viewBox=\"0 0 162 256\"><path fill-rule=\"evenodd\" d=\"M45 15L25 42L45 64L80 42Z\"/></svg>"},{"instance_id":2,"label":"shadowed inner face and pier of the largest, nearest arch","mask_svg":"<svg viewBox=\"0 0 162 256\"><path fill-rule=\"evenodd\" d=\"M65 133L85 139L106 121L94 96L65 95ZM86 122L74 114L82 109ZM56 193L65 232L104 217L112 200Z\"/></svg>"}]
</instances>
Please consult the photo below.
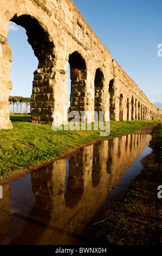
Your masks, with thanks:
<instances>
[{"instance_id":1,"label":"shadowed inner face and pier of the largest, nearest arch","mask_svg":"<svg viewBox=\"0 0 162 256\"><path fill-rule=\"evenodd\" d=\"M38 59L34 72L33 92L31 95L31 122L51 124L54 109L54 91L50 80L55 77L55 46L41 23L31 15L15 15L10 20L25 28L28 42Z\"/></svg>"}]
</instances>

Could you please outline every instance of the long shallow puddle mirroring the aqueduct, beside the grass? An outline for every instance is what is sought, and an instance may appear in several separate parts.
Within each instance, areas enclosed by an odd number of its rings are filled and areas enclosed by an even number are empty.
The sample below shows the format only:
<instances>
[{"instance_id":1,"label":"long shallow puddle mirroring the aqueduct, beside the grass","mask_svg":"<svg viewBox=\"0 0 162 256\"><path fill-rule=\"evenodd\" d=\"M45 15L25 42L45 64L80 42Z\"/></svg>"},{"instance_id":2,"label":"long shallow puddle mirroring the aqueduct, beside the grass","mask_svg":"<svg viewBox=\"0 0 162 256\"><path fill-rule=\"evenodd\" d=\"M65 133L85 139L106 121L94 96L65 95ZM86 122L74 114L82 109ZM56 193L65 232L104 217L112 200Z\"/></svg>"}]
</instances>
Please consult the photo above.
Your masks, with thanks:
<instances>
[{"instance_id":1,"label":"long shallow puddle mirroring the aqueduct, beside the grass","mask_svg":"<svg viewBox=\"0 0 162 256\"><path fill-rule=\"evenodd\" d=\"M151 138L101 141L4 185L0 245L84 245L85 230L142 169Z\"/></svg>"}]
</instances>

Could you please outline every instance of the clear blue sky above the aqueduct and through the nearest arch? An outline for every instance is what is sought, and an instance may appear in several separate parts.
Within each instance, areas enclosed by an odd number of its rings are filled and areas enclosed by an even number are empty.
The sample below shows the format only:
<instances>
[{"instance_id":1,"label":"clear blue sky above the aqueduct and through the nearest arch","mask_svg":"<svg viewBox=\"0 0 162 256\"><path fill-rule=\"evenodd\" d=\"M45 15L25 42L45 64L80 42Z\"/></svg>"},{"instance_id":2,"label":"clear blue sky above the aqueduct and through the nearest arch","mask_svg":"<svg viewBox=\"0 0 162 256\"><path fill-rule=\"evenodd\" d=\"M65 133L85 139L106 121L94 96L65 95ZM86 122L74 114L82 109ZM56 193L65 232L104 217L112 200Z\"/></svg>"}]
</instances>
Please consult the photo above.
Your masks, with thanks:
<instances>
[{"instance_id":1,"label":"clear blue sky above the aqueduct and through the nearest arch","mask_svg":"<svg viewBox=\"0 0 162 256\"><path fill-rule=\"evenodd\" d=\"M162 1L73 2L111 52L112 59L120 64L155 106L162 108L162 56L158 56L158 45L162 44ZM13 89L10 95L30 97L37 58L23 28L10 24L8 41L13 57Z\"/></svg>"}]
</instances>

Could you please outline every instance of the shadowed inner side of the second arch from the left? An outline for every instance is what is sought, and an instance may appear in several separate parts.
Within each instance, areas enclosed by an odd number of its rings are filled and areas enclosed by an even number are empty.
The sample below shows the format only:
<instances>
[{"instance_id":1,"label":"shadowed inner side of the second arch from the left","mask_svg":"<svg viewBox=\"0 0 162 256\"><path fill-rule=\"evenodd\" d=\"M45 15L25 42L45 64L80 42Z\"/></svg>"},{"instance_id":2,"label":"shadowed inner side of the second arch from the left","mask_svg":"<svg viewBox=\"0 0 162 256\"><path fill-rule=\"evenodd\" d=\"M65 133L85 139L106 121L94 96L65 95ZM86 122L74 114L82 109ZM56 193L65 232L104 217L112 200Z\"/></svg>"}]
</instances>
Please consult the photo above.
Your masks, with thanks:
<instances>
[{"instance_id":1,"label":"shadowed inner side of the second arch from the left","mask_svg":"<svg viewBox=\"0 0 162 256\"><path fill-rule=\"evenodd\" d=\"M70 64L70 111L85 111L87 66L77 51L69 55Z\"/></svg>"}]
</instances>

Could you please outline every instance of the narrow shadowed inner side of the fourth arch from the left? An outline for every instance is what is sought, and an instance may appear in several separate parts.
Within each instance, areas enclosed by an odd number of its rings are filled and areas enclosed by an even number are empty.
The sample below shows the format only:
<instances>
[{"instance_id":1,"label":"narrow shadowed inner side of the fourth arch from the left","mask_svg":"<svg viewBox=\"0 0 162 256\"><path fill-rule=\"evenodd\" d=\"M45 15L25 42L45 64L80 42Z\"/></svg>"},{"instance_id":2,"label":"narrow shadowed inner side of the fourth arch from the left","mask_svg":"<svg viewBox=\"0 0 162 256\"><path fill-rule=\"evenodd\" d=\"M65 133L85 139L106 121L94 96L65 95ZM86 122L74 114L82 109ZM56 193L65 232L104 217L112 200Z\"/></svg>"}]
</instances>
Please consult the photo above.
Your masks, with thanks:
<instances>
[{"instance_id":1,"label":"narrow shadowed inner side of the fourth arch from the left","mask_svg":"<svg viewBox=\"0 0 162 256\"><path fill-rule=\"evenodd\" d=\"M115 120L115 87L114 87L114 79L109 82L109 112L110 119Z\"/></svg>"}]
</instances>

